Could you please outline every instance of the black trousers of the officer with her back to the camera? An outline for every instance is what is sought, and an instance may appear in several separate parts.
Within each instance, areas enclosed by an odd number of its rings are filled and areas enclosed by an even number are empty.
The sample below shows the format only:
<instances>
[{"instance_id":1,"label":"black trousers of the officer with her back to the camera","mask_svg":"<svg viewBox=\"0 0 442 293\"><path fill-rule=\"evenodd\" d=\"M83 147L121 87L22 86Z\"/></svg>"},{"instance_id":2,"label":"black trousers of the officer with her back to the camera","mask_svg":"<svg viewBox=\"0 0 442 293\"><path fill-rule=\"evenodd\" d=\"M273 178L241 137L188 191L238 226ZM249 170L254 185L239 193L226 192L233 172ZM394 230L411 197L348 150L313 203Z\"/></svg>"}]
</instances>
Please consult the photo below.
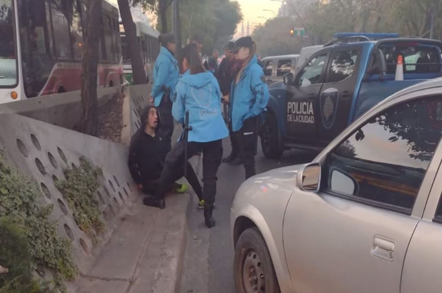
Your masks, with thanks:
<instances>
[{"instance_id":1,"label":"black trousers of the officer with her back to the camera","mask_svg":"<svg viewBox=\"0 0 442 293\"><path fill-rule=\"evenodd\" d=\"M163 172L161 173L160 184L155 192L158 199L164 198L168 186L176 179L179 169L183 169L184 165L184 141L180 140L176 143L171 151L167 154L164 161ZM222 141L216 140L208 143L190 142L187 145L187 157L202 152L202 199L206 205L213 207L215 195L217 193L217 172L222 160ZM189 163L188 163L189 164ZM190 164L189 164L190 165ZM193 168L192 168L193 171ZM189 168L187 169L189 172ZM187 174L189 175L189 174Z\"/></svg>"}]
</instances>

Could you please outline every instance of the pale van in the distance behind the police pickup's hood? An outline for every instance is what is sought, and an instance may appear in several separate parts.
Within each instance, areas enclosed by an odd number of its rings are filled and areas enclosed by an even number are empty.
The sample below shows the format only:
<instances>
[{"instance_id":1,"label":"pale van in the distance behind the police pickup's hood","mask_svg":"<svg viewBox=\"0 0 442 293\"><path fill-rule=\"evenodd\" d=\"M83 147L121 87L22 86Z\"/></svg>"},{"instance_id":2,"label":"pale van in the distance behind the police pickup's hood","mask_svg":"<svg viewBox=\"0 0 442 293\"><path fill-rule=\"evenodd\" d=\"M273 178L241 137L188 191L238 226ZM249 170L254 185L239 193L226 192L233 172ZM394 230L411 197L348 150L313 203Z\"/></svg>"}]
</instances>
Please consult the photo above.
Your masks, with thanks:
<instances>
[{"instance_id":1,"label":"pale van in the distance behind the police pickup's hood","mask_svg":"<svg viewBox=\"0 0 442 293\"><path fill-rule=\"evenodd\" d=\"M268 84L275 81L282 81L287 73L294 73L298 60L297 54L268 56L261 60L263 63L264 75Z\"/></svg>"}]
</instances>

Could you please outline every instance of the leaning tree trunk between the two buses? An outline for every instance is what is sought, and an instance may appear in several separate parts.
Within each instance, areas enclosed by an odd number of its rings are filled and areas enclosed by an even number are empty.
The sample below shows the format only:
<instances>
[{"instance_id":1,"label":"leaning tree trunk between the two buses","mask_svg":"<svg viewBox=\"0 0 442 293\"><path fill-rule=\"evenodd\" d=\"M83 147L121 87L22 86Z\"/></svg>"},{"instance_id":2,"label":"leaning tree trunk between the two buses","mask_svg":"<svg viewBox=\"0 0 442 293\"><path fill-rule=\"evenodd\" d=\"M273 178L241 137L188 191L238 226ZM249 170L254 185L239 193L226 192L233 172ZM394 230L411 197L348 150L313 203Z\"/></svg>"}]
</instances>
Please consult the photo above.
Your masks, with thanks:
<instances>
[{"instance_id":1,"label":"leaning tree trunk between the two buses","mask_svg":"<svg viewBox=\"0 0 442 293\"><path fill-rule=\"evenodd\" d=\"M130 62L132 64L133 84L147 83L146 72L141 57L141 44L137 40L137 27L133 23L128 0L118 0L121 20L129 45Z\"/></svg>"}]
</instances>

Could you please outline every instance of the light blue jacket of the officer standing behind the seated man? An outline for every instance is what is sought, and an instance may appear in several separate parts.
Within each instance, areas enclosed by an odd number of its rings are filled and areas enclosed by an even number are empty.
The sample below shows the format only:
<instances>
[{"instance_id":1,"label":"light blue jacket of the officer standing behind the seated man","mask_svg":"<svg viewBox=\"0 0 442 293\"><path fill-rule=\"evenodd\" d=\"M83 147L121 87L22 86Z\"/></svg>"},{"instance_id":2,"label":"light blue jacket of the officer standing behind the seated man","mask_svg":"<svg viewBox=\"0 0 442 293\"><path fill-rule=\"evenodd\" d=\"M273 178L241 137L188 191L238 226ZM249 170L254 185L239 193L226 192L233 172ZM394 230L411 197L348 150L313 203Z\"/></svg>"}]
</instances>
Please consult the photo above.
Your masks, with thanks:
<instances>
[{"instance_id":1,"label":"light blue jacket of the officer standing behind the seated man","mask_svg":"<svg viewBox=\"0 0 442 293\"><path fill-rule=\"evenodd\" d=\"M151 96L156 107L160 105L166 88L170 89L171 98L173 97L178 78L178 61L167 48L161 47L160 54L156 58L155 67L153 68L154 82Z\"/></svg>"}]
</instances>

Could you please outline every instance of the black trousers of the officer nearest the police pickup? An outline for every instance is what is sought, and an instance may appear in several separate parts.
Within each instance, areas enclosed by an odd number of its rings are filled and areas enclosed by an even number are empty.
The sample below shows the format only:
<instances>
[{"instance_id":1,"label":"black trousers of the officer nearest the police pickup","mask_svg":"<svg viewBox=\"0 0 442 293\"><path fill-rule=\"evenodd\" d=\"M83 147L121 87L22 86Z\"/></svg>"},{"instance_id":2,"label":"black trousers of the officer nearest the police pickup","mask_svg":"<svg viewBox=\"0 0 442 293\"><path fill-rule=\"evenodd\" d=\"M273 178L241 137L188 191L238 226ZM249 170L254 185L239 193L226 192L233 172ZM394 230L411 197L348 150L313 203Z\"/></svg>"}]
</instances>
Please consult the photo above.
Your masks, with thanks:
<instances>
[{"instance_id":1,"label":"black trousers of the officer nearest the police pickup","mask_svg":"<svg viewBox=\"0 0 442 293\"><path fill-rule=\"evenodd\" d=\"M246 180L256 175L255 156L258 147L258 118L251 117L244 121L243 127L236 132L240 157L244 164Z\"/></svg>"}]
</instances>

